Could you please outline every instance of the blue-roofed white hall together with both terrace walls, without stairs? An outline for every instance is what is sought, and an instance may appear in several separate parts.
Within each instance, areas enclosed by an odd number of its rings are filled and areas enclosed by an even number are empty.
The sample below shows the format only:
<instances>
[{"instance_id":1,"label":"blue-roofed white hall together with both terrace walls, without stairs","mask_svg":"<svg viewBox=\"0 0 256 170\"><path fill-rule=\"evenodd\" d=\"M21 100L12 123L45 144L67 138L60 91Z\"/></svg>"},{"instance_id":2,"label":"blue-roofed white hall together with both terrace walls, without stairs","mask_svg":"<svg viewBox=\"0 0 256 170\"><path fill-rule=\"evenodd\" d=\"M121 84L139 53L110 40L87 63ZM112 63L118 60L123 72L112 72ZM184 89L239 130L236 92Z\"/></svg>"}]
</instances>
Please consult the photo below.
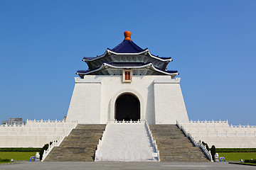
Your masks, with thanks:
<instances>
[{"instance_id":1,"label":"blue-roofed white hall together with both terrace walls, without stairs","mask_svg":"<svg viewBox=\"0 0 256 170\"><path fill-rule=\"evenodd\" d=\"M63 138L80 124L113 120L146 120L149 124L181 125L195 141L215 147L256 147L255 126L225 121L188 121L177 71L166 69L171 57L151 55L124 33L117 47L84 57L78 70L68 115L64 120L28 120L26 125L0 125L0 147L43 147Z\"/></svg>"}]
</instances>

